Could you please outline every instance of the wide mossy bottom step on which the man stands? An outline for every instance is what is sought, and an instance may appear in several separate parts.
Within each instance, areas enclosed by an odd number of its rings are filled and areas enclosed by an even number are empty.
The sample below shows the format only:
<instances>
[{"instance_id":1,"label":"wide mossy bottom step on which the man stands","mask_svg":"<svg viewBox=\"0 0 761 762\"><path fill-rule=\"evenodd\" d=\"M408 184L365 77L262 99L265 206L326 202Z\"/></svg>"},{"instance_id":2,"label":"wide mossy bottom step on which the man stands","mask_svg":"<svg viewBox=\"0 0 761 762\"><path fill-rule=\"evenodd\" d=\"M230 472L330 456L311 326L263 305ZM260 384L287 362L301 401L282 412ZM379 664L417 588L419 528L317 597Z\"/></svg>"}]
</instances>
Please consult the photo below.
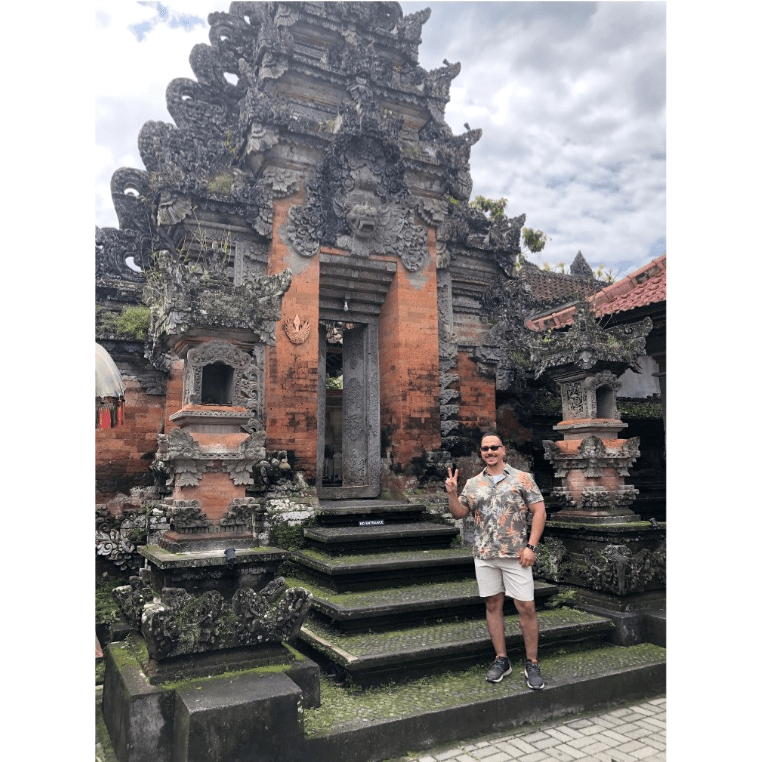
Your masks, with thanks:
<instances>
[{"instance_id":1,"label":"wide mossy bottom step on which the man stands","mask_svg":"<svg viewBox=\"0 0 761 762\"><path fill-rule=\"evenodd\" d=\"M542 655L545 688L526 687L520 663L498 684L489 660L438 675L346 691L321 678L321 706L303 712L301 759L378 762L580 711L662 695L666 651L651 643ZM296 758L296 757L294 757Z\"/></svg>"}]
</instances>

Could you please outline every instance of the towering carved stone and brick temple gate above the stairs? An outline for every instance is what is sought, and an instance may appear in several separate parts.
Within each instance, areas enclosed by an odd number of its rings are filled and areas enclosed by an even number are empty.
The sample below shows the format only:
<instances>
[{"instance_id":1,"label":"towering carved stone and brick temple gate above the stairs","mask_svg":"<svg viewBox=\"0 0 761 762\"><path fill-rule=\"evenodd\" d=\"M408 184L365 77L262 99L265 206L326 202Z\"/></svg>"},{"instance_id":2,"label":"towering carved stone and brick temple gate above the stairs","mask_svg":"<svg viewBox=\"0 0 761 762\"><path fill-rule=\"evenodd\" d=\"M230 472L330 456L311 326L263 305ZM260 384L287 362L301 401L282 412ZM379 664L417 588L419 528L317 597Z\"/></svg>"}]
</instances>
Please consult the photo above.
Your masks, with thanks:
<instances>
[{"instance_id":1,"label":"towering carved stone and brick temple gate above the stairs","mask_svg":"<svg viewBox=\"0 0 761 762\"><path fill-rule=\"evenodd\" d=\"M167 88L176 124L145 124L145 169L112 180L119 229L96 231L101 318L151 311L145 346L100 332L148 416L118 463L103 440L101 496L147 484L149 429L155 440L184 405L206 404L187 390L191 352L209 341L251 369L217 358L206 383L245 377L245 393L218 398L242 404L246 430L325 497L377 496L382 463L435 462L495 423L494 368L479 372L473 352L481 297L512 275L524 217L491 222L466 203L481 131L444 120L459 65L417 63L429 13L243 2L211 14L196 79Z\"/></svg>"}]
</instances>

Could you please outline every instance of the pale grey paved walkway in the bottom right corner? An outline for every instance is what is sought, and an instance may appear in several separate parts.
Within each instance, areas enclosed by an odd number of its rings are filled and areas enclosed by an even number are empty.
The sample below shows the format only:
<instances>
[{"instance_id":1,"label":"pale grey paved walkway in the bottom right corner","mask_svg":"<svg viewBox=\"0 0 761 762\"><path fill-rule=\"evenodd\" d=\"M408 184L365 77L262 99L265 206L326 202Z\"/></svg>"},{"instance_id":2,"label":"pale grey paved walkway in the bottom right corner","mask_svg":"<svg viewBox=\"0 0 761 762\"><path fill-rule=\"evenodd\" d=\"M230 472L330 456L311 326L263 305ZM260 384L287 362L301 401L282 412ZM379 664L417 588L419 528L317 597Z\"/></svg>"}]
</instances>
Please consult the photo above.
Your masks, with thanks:
<instances>
[{"instance_id":1,"label":"pale grey paved walkway in the bottom right corner","mask_svg":"<svg viewBox=\"0 0 761 762\"><path fill-rule=\"evenodd\" d=\"M665 762L666 698L429 750L409 762Z\"/></svg>"}]
</instances>

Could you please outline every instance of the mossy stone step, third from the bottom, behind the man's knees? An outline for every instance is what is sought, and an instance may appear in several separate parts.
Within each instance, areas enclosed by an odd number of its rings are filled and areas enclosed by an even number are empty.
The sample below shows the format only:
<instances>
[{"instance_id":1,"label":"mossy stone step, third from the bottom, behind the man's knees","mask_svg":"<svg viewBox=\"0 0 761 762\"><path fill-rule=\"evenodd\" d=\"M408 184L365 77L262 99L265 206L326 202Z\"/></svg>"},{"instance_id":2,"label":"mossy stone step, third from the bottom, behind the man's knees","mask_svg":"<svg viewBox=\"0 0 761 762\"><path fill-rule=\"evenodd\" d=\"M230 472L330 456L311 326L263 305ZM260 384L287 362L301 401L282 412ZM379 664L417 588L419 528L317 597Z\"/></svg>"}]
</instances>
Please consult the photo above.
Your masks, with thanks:
<instances>
[{"instance_id":1,"label":"mossy stone step, third from the bottom, behind the man's knees","mask_svg":"<svg viewBox=\"0 0 761 762\"><path fill-rule=\"evenodd\" d=\"M310 611L342 632L398 628L403 624L477 617L484 613L484 601L472 577L341 594L295 578L286 579L286 584L306 587L314 596ZM537 581L534 586L537 607L541 608L542 602L557 592L557 585ZM515 613L512 601L505 604L505 610Z\"/></svg>"}]
</instances>

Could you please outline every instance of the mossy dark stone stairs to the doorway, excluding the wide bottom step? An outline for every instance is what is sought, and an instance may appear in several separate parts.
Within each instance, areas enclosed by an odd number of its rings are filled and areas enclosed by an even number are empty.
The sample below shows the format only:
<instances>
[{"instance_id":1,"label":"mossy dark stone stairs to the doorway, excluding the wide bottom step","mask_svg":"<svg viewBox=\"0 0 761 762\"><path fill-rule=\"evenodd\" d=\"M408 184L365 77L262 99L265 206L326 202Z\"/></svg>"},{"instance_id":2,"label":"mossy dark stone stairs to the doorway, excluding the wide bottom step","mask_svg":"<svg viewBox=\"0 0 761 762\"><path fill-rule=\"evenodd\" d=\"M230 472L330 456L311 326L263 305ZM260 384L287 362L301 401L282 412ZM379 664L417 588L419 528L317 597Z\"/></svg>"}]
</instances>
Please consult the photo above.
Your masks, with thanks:
<instances>
[{"instance_id":1,"label":"mossy dark stone stairs to the doorway, excluding the wide bottom step","mask_svg":"<svg viewBox=\"0 0 761 762\"><path fill-rule=\"evenodd\" d=\"M321 501L307 547L287 580L314 599L297 648L355 686L456 669L493 658L470 547L425 506L382 500ZM540 656L608 644L614 623L595 613L545 608L558 587L537 580ZM523 658L512 602L505 605L508 653Z\"/></svg>"}]
</instances>

